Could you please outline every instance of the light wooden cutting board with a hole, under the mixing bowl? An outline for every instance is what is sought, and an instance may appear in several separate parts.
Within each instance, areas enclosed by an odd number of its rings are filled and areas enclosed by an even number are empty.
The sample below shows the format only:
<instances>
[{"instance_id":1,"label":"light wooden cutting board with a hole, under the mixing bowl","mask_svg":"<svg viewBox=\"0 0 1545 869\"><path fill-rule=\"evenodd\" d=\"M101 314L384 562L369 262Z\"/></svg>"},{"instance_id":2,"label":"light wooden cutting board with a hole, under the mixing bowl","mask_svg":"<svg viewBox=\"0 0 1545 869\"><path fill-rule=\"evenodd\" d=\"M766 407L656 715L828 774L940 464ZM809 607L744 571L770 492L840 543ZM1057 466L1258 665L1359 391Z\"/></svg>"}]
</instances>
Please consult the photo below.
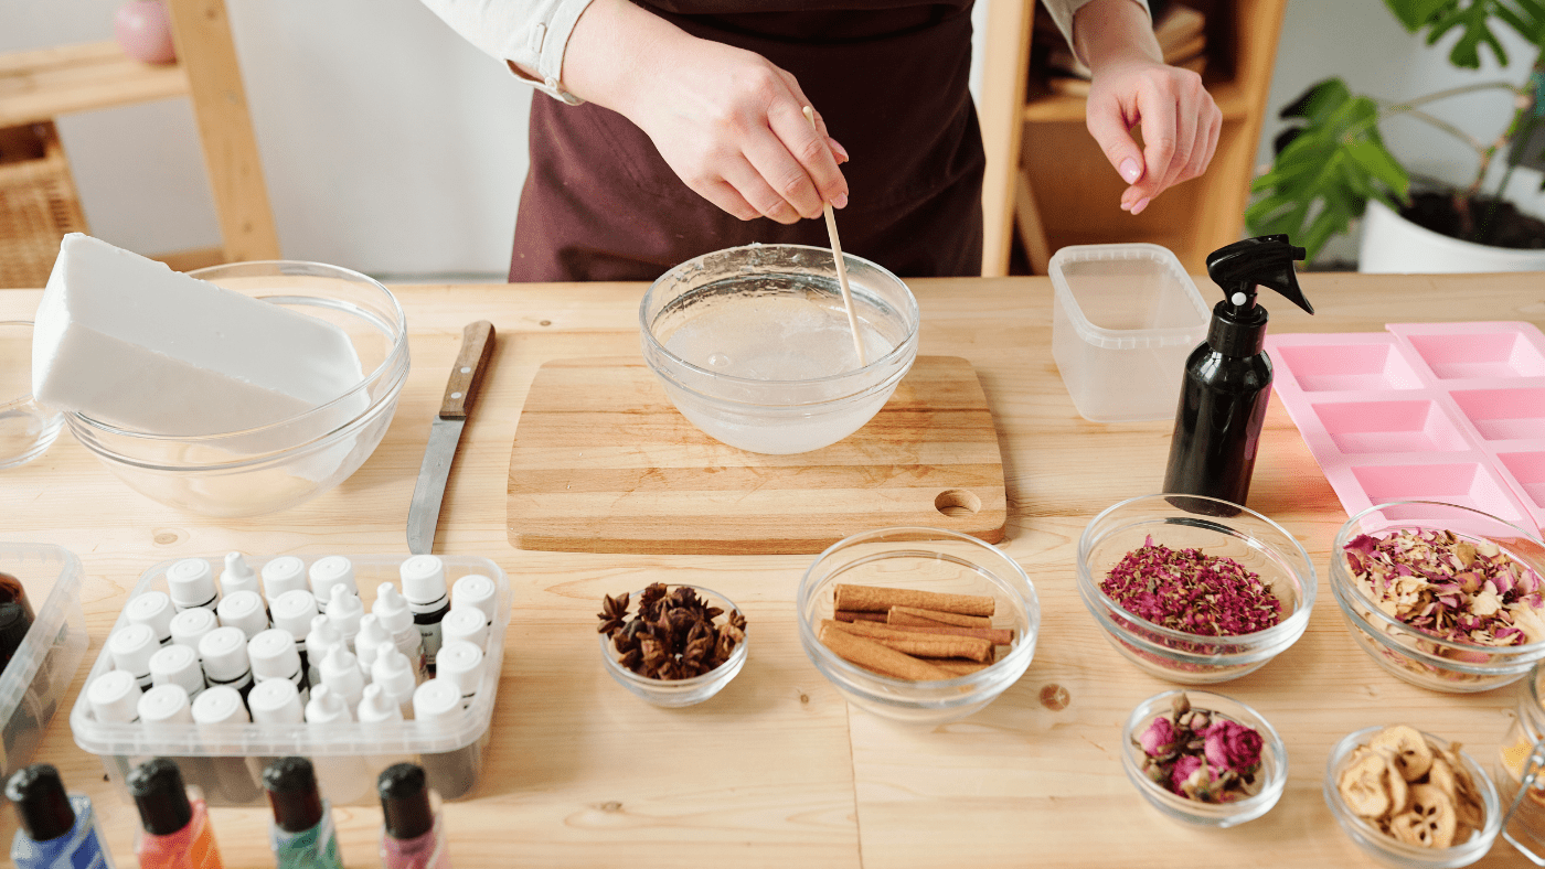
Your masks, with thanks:
<instances>
[{"instance_id":1,"label":"light wooden cutting board with a hole, under the mixing bowl","mask_svg":"<svg viewBox=\"0 0 1545 869\"><path fill-rule=\"evenodd\" d=\"M1003 457L975 369L918 357L856 434L797 455L700 432L640 358L555 360L510 455L510 542L565 553L819 553L895 525L997 543Z\"/></svg>"}]
</instances>

